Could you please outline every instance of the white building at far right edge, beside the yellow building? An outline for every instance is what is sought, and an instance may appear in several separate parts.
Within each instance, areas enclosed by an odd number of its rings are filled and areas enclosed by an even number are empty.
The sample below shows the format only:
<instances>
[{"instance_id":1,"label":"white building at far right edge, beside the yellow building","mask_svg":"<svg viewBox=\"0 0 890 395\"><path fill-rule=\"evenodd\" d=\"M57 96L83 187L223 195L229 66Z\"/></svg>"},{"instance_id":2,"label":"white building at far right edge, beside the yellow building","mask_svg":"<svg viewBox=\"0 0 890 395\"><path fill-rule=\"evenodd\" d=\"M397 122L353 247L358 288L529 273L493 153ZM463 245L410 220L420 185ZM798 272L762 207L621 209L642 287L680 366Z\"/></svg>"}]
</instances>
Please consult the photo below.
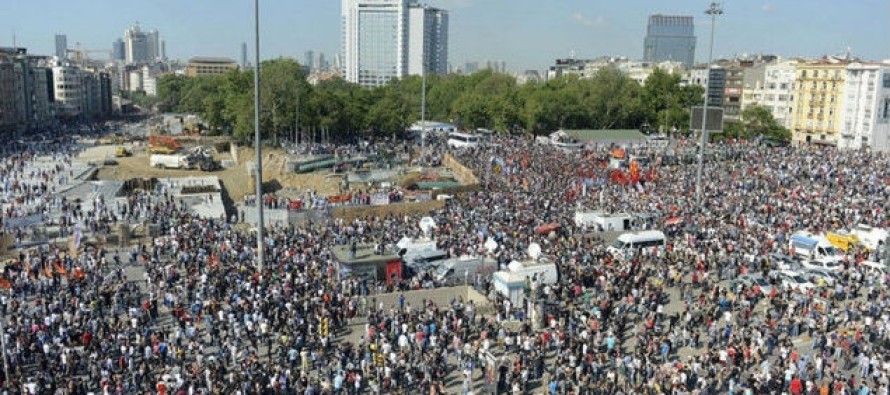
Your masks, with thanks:
<instances>
[{"instance_id":1,"label":"white building at far right edge, beside the yellow building","mask_svg":"<svg viewBox=\"0 0 890 395\"><path fill-rule=\"evenodd\" d=\"M847 66L838 148L890 151L890 63Z\"/></svg>"}]
</instances>

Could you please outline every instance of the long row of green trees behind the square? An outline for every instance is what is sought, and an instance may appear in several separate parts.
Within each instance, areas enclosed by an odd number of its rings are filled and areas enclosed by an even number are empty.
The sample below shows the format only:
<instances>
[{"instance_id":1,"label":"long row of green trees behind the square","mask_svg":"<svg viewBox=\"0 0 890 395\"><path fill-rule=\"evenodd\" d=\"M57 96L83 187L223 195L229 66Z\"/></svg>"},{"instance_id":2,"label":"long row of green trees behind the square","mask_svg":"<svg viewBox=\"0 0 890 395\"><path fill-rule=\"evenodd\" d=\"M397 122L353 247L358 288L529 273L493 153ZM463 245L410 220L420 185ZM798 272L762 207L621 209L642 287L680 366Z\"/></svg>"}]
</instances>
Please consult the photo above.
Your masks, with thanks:
<instances>
[{"instance_id":1,"label":"long row of green trees behind the square","mask_svg":"<svg viewBox=\"0 0 890 395\"><path fill-rule=\"evenodd\" d=\"M292 59L262 63L261 130L266 137L300 125L324 127L332 133L390 134L420 119L422 82L418 76L365 89L340 78L307 83ZM464 128L549 132L568 129L636 129L649 124L684 130L689 108L700 105L704 91L682 86L680 77L661 70L646 84L614 68L593 78L562 77L517 84L507 74L490 70L472 75L427 77L427 119ZM234 70L202 77L169 75L158 83L160 111L194 112L209 127L249 140L253 133L253 72Z\"/></svg>"}]
</instances>

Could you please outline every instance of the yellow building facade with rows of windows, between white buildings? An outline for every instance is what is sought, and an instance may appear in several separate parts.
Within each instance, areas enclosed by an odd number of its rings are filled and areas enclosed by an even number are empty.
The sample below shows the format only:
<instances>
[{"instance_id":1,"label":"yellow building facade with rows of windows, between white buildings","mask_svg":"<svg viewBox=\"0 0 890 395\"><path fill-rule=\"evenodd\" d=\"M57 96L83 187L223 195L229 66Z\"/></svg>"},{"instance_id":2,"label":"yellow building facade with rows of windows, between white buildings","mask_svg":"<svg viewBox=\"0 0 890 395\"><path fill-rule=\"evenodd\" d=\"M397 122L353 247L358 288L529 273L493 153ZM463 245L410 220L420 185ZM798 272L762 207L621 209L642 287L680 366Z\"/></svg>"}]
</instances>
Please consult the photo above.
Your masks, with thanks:
<instances>
[{"instance_id":1,"label":"yellow building facade with rows of windows, between white buildings","mask_svg":"<svg viewBox=\"0 0 890 395\"><path fill-rule=\"evenodd\" d=\"M847 64L849 62L834 59L797 64L792 140L837 145Z\"/></svg>"}]
</instances>

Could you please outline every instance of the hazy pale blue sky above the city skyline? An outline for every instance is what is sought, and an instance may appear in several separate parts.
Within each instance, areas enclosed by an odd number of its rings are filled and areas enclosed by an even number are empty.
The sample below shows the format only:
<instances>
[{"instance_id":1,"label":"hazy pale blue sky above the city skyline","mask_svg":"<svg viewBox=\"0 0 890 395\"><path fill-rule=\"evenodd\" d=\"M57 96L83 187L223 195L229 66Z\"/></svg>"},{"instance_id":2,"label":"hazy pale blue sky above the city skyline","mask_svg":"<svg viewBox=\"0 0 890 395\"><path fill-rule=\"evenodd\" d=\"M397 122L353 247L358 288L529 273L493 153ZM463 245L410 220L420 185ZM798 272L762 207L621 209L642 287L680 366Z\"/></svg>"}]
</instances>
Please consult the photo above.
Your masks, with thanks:
<instances>
[{"instance_id":1,"label":"hazy pale blue sky above the city skyline","mask_svg":"<svg viewBox=\"0 0 890 395\"><path fill-rule=\"evenodd\" d=\"M696 58L707 59L706 0L428 0L450 11L450 62L503 60L511 71L546 69L556 58L638 59L650 14L693 15ZM849 47L869 60L890 58L888 0L729 0L717 22L715 57L774 53L815 57ZM307 50L333 60L340 48L340 0L260 0L261 54ZM253 58L250 0L2 0L0 45L52 54L54 34L83 49L110 49L137 21L157 29L167 55ZM103 55L93 55L101 58Z\"/></svg>"}]
</instances>

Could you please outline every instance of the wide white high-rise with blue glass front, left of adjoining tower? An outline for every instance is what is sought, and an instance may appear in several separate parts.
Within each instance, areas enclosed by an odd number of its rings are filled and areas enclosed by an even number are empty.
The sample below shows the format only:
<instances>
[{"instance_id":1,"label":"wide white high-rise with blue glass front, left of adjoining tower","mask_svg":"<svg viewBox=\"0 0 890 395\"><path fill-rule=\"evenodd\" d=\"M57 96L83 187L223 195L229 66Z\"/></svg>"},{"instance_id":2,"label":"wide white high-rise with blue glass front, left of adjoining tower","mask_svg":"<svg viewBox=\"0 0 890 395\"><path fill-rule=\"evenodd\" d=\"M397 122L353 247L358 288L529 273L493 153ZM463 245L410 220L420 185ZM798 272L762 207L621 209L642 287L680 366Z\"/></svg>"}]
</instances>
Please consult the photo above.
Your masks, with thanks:
<instances>
[{"instance_id":1,"label":"wide white high-rise with blue glass front, left of adjoining tower","mask_svg":"<svg viewBox=\"0 0 890 395\"><path fill-rule=\"evenodd\" d=\"M341 51L347 81L384 85L408 69L408 0L341 0Z\"/></svg>"}]
</instances>

